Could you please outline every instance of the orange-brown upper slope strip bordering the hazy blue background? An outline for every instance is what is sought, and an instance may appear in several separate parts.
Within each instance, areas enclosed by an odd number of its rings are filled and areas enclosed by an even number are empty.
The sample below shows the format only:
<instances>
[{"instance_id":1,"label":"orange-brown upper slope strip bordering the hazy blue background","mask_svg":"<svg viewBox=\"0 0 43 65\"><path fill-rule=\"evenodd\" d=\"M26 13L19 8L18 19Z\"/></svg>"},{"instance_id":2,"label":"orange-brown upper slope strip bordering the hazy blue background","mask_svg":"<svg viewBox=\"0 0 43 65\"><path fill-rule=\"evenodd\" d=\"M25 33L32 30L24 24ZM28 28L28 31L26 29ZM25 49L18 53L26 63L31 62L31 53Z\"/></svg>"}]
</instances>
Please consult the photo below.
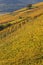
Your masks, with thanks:
<instances>
[{"instance_id":1,"label":"orange-brown upper slope strip bordering the hazy blue background","mask_svg":"<svg viewBox=\"0 0 43 65\"><path fill-rule=\"evenodd\" d=\"M8 14L5 14L5 15L0 15L0 24L1 23L6 23L6 22L11 22L11 21L16 21L16 20L18 20L19 16L23 16L23 14L25 16L26 15L25 13L28 12L28 14L29 14L29 12L31 13L34 10L38 10L39 11L40 8L43 11L43 2L38 3L38 4L34 4L33 7L35 7L35 8L33 8L31 10L29 10L29 9L27 9L27 7L25 7L25 8L22 8L20 10L15 11L15 12L12 12L12 13L8 13Z\"/></svg>"}]
</instances>

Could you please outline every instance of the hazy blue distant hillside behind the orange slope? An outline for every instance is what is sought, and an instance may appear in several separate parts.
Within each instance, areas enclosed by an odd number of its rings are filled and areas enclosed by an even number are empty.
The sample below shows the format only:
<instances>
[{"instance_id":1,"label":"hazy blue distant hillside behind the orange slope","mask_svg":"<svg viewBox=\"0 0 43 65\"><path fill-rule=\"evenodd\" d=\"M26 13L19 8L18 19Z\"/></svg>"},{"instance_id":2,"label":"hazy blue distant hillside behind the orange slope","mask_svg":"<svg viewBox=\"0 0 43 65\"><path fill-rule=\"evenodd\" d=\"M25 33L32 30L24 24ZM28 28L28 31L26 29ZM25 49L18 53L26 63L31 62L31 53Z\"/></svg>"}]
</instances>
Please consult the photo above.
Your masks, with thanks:
<instances>
[{"instance_id":1,"label":"hazy blue distant hillside behind the orange slope","mask_svg":"<svg viewBox=\"0 0 43 65\"><path fill-rule=\"evenodd\" d=\"M43 2L43 0L0 0L0 14L5 14L25 7L27 4Z\"/></svg>"}]
</instances>

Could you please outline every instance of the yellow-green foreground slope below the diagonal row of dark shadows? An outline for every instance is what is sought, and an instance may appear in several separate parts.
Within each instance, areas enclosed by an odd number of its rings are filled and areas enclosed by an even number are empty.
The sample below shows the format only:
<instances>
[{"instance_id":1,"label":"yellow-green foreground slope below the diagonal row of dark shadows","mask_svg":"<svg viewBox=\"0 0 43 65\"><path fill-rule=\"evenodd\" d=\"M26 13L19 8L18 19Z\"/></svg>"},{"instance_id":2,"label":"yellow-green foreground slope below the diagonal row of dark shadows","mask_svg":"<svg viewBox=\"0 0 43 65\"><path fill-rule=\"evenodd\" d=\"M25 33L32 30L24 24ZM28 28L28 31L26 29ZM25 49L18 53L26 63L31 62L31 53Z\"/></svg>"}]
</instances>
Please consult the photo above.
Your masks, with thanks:
<instances>
[{"instance_id":1,"label":"yellow-green foreground slope below the diagonal row of dark shadows","mask_svg":"<svg viewBox=\"0 0 43 65\"><path fill-rule=\"evenodd\" d=\"M0 39L0 65L43 65L43 14Z\"/></svg>"}]
</instances>

